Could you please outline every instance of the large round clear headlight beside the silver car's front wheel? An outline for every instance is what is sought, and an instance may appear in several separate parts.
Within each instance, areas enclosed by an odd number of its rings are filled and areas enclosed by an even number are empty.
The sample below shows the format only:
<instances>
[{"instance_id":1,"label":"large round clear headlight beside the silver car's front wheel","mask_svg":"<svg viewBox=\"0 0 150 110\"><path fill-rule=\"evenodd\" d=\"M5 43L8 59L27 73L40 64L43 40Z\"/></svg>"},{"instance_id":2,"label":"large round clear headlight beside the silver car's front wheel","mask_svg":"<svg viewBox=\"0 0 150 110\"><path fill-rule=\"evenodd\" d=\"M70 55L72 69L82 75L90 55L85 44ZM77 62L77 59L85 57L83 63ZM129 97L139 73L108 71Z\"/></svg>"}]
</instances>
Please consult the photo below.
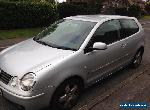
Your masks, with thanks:
<instances>
[{"instance_id":1,"label":"large round clear headlight beside the silver car's front wheel","mask_svg":"<svg viewBox=\"0 0 150 110\"><path fill-rule=\"evenodd\" d=\"M24 91L29 91L33 88L35 84L35 74L34 73L28 73L22 77L20 80L20 86L21 89Z\"/></svg>"}]
</instances>

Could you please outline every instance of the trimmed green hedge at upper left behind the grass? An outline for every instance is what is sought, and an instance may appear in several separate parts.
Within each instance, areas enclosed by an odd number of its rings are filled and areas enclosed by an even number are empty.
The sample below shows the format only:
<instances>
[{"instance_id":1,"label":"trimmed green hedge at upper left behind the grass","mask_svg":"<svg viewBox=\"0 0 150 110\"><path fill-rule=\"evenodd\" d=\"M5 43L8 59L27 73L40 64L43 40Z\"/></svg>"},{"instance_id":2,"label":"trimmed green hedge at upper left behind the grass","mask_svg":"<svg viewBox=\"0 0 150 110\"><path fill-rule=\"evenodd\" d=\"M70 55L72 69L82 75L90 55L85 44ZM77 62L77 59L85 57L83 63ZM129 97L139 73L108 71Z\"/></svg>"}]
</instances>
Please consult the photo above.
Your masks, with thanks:
<instances>
[{"instance_id":1,"label":"trimmed green hedge at upper left behind the grass","mask_svg":"<svg viewBox=\"0 0 150 110\"><path fill-rule=\"evenodd\" d=\"M54 4L0 1L0 29L48 26L57 18Z\"/></svg>"}]
</instances>

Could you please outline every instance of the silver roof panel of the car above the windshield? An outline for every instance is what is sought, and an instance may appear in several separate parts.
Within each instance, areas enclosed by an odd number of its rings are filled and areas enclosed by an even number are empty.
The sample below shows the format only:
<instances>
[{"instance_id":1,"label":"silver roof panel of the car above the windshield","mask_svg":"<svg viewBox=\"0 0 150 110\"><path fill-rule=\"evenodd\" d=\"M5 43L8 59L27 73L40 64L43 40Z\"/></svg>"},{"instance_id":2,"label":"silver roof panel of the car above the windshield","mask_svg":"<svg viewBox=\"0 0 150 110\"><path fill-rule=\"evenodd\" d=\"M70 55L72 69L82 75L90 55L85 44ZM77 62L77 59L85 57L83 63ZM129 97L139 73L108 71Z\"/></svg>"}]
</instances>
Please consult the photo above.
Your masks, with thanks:
<instances>
[{"instance_id":1,"label":"silver roof panel of the car above the windshield","mask_svg":"<svg viewBox=\"0 0 150 110\"><path fill-rule=\"evenodd\" d=\"M135 19L135 18L128 17L128 16L120 16L120 15L77 15L77 16L67 17L65 19L100 22L105 19Z\"/></svg>"}]
</instances>

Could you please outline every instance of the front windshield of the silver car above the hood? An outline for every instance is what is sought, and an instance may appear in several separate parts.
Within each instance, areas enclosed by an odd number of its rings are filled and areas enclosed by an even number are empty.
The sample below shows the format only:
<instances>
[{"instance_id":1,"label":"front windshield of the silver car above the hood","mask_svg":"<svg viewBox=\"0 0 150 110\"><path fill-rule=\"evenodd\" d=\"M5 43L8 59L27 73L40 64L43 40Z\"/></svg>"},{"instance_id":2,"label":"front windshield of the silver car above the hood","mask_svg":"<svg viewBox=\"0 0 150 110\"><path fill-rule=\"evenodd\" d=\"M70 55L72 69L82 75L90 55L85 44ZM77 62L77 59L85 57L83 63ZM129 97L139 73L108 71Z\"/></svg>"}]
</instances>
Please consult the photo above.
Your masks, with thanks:
<instances>
[{"instance_id":1,"label":"front windshield of the silver car above the hood","mask_svg":"<svg viewBox=\"0 0 150 110\"><path fill-rule=\"evenodd\" d=\"M95 25L95 22L64 19L46 28L34 40L54 48L76 51Z\"/></svg>"}]
</instances>

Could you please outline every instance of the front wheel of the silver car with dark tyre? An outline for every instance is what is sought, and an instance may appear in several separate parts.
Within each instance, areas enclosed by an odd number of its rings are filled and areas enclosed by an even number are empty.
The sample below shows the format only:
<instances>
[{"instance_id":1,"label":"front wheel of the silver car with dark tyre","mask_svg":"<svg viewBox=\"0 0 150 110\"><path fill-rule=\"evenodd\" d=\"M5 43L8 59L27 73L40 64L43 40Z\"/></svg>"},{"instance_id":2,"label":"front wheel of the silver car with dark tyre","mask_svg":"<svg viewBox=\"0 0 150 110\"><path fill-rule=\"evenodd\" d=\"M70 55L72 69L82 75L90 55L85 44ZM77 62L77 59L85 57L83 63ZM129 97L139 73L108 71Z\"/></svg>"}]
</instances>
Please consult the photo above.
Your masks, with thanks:
<instances>
[{"instance_id":1,"label":"front wheel of the silver car with dark tyre","mask_svg":"<svg viewBox=\"0 0 150 110\"><path fill-rule=\"evenodd\" d=\"M52 97L52 110L70 110L77 103L82 89L83 84L78 79L64 81Z\"/></svg>"}]
</instances>

